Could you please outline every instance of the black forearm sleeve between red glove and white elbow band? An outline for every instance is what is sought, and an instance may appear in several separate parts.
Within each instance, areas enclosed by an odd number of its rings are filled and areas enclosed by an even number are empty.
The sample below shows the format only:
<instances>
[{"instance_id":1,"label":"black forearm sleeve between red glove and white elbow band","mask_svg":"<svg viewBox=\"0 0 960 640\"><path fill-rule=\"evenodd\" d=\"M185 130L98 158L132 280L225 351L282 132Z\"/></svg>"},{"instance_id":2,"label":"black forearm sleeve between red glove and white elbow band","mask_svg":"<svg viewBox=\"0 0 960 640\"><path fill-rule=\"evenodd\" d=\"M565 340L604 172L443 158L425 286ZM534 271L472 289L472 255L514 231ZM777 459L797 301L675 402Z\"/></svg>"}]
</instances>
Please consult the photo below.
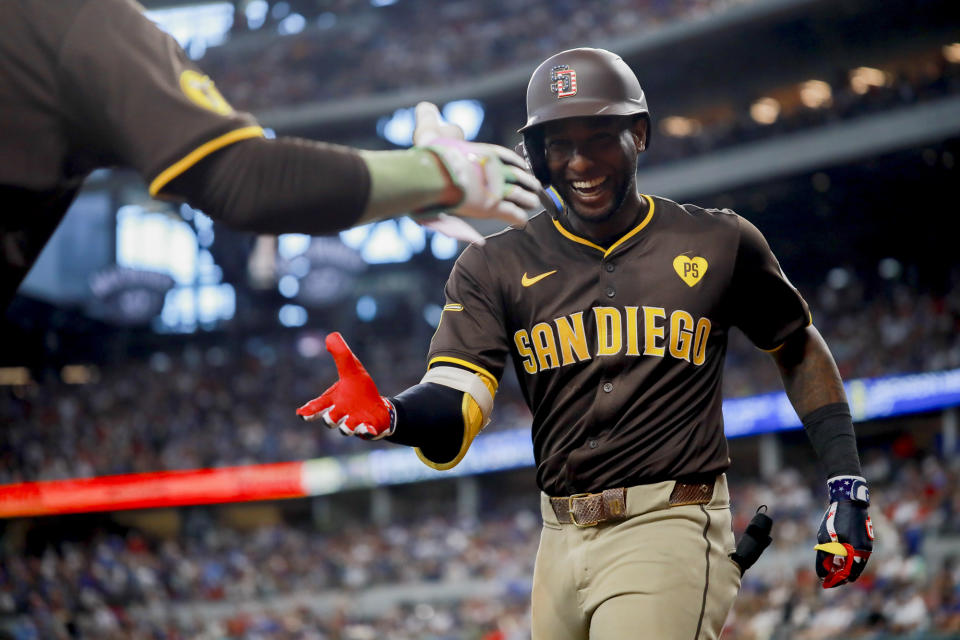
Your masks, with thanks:
<instances>
[{"instance_id":1,"label":"black forearm sleeve between red glove and white elbow band","mask_svg":"<svg viewBox=\"0 0 960 640\"><path fill-rule=\"evenodd\" d=\"M397 429L390 442L419 447L439 463L453 460L463 443L463 392L427 382L390 398Z\"/></svg>"}]
</instances>

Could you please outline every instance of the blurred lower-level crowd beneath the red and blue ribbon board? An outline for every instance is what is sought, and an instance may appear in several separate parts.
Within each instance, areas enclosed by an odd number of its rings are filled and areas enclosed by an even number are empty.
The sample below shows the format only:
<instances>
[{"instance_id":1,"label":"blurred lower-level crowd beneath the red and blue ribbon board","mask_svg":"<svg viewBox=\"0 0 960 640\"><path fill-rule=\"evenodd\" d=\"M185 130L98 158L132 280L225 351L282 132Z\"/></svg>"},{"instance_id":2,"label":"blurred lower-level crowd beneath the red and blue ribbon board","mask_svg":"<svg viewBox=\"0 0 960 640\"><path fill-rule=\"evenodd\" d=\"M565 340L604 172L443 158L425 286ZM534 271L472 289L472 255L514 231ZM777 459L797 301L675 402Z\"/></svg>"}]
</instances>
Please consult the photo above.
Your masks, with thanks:
<instances>
[{"instance_id":1,"label":"blurred lower-level crowd beneath the red and blue ribbon board","mask_svg":"<svg viewBox=\"0 0 960 640\"><path fill-rule=\"evenodd\" d=\"M735 531L768 504L775 541L745 576L724 638L960 634L960 459L918 451L905 434L865 462L881 543L860 581L829 592L811 565L820 479L792 469L770 482L734 476ZM0 628L17 640L520 640L538 537L529 507L335 533L291 523L241 531L203 517L188 517L173 539L100 531L30 553L5 549ZM499 595L477 596L479 583ZM434 599L410 595L425 585ZM371 600L379 606L358 606Z\"/></svg>"}]
</instances>

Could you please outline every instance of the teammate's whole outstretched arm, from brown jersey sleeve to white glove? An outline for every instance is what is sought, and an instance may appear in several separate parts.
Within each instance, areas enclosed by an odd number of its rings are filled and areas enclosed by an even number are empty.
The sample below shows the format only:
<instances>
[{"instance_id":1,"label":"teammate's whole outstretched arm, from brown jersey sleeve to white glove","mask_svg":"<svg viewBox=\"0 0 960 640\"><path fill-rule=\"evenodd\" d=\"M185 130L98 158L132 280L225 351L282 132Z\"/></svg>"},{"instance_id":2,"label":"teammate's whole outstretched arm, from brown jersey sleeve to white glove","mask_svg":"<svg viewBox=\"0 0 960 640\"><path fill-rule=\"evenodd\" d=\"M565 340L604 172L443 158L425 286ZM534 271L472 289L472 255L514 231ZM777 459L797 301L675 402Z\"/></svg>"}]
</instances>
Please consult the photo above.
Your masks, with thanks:
<instances>
[{"instance_id":1,"label":"teammate's whole outstretched arm, from brown jersey sleeve to white glove","mask_svg":"<svg viewBox=\"0 0 960 640\"><path fill-rule=\"evenodd\" d=\"M233 226L324 233L440 209L515 223L539 202L519 156L451 138L432 105L418 106L422 141L410 150L265 139L132 0L84 3L63 40L61 106L77 138L101 164L136 169L150 195ZM433 226L457 227L447 222Z\"/></svg>"}]
</instances>

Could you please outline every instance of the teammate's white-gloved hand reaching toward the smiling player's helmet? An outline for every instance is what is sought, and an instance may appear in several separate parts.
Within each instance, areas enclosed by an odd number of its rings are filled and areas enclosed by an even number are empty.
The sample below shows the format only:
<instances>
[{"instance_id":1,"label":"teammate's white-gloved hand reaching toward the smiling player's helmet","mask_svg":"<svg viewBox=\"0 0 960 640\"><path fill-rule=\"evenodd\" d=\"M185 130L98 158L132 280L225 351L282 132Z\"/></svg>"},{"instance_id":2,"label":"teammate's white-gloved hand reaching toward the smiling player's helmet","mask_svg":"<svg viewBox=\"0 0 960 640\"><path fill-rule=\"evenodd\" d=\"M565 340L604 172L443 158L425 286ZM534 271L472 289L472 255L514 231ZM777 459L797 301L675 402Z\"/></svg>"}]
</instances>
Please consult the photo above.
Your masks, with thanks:
<instances>
[{"instance_id":1,"label":"teammate's white-gloved hand reaching toward the smiling player's helmet","mask_svg":"<svg viewBox=\"0 0 960 640\"><path fill-rule=\"evenodd\" d=\"M497 145L466 142L460 127L443 122L432 103L418 104L415 118L413 144L440 159L462 194L448 211L509 224L527 220L526 211L540 203L541 186L520 156Z\"/></svg>"}]
</instances>

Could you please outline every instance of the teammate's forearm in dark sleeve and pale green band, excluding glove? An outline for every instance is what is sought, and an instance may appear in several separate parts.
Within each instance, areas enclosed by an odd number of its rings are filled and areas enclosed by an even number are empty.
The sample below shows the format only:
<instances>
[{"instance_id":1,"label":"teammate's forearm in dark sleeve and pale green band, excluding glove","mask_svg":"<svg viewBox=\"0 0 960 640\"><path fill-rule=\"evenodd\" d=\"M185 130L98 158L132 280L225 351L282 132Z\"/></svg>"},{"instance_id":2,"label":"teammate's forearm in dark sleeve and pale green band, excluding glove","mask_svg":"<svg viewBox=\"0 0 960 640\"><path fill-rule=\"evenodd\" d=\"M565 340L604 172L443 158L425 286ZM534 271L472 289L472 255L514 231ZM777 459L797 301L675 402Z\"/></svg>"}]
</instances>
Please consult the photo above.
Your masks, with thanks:
<instances>
[{"instance_id":1,"label":"teammate's forearm in dark sleeve and pale green band, excluding glove","mask_svg":"<svg viewBox=\"0 0 960 640\"><path fill-rule=\"evenodd\" d=\"M453 206L461 193L428 151L364 154L310 140L258 138L205 158L157 195L186 200L243 230L323 234Z\"/></svg>"}]
</instances>

